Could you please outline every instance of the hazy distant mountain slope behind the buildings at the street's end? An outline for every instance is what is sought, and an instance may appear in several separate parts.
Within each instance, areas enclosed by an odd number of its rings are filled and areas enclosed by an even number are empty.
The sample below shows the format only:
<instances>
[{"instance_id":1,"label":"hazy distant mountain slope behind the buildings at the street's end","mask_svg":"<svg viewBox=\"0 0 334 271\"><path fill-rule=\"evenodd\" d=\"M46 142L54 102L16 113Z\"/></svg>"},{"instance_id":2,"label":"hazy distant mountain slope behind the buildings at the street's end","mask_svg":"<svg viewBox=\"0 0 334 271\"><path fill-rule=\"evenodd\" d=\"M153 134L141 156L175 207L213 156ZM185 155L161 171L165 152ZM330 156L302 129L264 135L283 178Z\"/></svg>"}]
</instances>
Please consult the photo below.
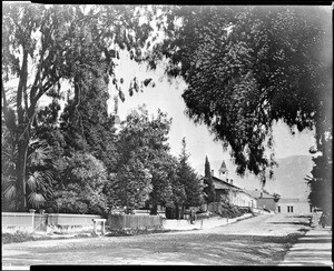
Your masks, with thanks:
<instances>
[{"instance_id":1,"label":"hazy distant mountain slope behind the buildings at the street's end","mask_svg":"<svg viewBox=\"0 0 334 271\"><path fill-rule=\"evenodd\" d=\"M222 160L223 161L223 160ZM222 161L209 161L214 174L219 178L218 169ZM234 184L245 189L261 189L259 180L248 174L244 178L235 173L236 167L229 160L225 160L226 167L229 170L228 178L234 180ZM274 179L267 180L265 190L269 193L278 193L282 198L298 198L307 199L310 189L304 180L306 174L310 174L313 161L310 155L293 155L283 159L277 159L278 168L274 168ZM204 175L204 164L195 168L199 174Z\"/></svg>"}]
</instances>

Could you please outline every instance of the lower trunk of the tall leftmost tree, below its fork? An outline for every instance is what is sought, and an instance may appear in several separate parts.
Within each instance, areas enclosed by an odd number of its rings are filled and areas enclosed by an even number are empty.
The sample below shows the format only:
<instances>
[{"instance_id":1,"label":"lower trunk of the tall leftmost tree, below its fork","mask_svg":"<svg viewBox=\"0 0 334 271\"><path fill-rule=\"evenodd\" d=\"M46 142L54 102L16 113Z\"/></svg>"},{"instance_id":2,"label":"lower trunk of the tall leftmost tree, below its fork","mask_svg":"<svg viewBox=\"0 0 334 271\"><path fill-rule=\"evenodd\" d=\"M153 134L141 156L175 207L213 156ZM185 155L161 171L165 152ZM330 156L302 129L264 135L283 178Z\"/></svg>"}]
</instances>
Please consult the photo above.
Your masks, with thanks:
<instances>
[{"instance_id":1,"label":"lower trunk of the tall leftmost tree, below its fork","mask_svg":"<svg viewBox=\"0 0 334 271\"><path fill-rule=\"evenodd\" d=\"M26 169L28 154L28 140L19 140L18 160L17 160L17 184L18 184L18 211L27 211L27 193L26 193Z\"/></svg>"}]
</instances>

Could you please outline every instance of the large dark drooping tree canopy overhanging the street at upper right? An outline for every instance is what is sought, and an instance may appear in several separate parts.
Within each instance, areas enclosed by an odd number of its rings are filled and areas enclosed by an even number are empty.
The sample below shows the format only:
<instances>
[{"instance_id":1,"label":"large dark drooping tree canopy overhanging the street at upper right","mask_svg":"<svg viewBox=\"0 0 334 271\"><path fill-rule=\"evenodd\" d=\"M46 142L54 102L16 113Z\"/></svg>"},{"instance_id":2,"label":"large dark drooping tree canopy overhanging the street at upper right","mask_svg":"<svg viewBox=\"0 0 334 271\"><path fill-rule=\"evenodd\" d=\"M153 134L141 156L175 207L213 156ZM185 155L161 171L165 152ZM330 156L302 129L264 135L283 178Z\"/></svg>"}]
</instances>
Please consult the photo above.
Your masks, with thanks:
<instances>
[{"instance_id":1,"label":"large dark drooping tree canopy overhanging the street at upper right","mask_svg":"<svg viewBox=\"0 0 334 271\"><path fill-rule=\"evenodd\" d=\"M163 9L164 10L164 9ZM320 10L298 7L173 7L151 57L187 83L187 114L232 148L237 172L275 165L272 128L331 131L331 93ZM322 136L317 136L320 138ZM269 172L272 174L272 172Z\"/></svg>"}]
</instances>

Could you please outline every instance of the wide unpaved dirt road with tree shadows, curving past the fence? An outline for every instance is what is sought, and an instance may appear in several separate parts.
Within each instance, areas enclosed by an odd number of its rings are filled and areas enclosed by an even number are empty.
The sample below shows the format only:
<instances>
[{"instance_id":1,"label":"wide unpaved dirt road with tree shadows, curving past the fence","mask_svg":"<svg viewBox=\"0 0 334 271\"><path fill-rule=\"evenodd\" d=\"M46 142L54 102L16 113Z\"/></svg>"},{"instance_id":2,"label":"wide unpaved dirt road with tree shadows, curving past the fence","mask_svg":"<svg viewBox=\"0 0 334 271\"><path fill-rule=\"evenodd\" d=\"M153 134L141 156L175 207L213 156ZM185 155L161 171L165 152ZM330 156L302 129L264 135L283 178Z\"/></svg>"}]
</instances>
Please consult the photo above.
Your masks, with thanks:
<instances>
[{"instance_id":1,"label":"wide unpaved dirt road with tree shadows, curving past the fence","mask_svg":"<svg viewBox=\"0 0 334 271\"><path fill-rule=\"evenodd\" d=\"M306 218L267 214L210 230L10 243L2 247L2 265L276 265L307 224Z\"/></svg>"}]
</instances>

